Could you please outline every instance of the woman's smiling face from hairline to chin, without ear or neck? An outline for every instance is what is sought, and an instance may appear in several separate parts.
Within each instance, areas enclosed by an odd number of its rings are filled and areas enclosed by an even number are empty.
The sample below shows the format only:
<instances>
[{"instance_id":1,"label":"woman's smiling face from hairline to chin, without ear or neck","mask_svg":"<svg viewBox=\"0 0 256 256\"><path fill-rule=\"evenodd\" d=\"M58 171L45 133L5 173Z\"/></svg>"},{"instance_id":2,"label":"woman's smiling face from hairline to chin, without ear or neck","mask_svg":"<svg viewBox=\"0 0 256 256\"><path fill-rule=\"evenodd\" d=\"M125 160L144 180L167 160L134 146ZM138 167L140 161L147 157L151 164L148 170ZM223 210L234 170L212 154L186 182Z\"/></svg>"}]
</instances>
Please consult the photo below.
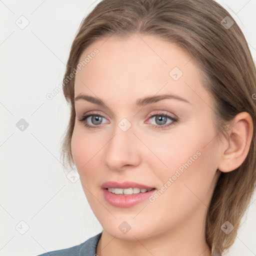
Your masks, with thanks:
<instances>
[{"instance_id":1,"label":"woman's smiling face from hairline to chin, without ear or neck","mask_svg":"<svg viewBox=\"0 0 256 256\"><path fill-rule=\"evenodd\" d=\"M129 240L203 232L221 147L213 102L192 56L156 37L132 35L96 41L80 61L71 150L103 229ZM168 94L182 100L161 99Z\"/></svg>"}]
</instances>

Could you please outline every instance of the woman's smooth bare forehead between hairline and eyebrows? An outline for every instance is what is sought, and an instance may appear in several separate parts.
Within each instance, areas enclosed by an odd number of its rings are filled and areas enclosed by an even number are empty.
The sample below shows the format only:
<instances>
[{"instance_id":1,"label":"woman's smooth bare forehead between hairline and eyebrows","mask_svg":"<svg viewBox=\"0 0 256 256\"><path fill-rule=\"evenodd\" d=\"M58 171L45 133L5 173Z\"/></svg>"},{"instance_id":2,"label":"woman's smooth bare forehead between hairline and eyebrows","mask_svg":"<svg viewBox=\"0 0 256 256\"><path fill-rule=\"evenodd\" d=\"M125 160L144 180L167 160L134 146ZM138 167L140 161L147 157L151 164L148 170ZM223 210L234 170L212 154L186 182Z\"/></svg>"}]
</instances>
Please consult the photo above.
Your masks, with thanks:
<instances>
[{"instance_id":1,"label":"woman's smooth bare forehead between hairline and eyebrows","mask_svg":"<svg viewBox=\"0 0 256 256\"><path fill-rule=\"evenodd\" d=\"M85 59L75 75L75 95L86 93L106 100L118 95L119 102L131 103L131 98L173 93L190 102L199 98L210 102L192 56L154 36L108 36L90 44L79 62Z\"/></svg>"}]
</instances>

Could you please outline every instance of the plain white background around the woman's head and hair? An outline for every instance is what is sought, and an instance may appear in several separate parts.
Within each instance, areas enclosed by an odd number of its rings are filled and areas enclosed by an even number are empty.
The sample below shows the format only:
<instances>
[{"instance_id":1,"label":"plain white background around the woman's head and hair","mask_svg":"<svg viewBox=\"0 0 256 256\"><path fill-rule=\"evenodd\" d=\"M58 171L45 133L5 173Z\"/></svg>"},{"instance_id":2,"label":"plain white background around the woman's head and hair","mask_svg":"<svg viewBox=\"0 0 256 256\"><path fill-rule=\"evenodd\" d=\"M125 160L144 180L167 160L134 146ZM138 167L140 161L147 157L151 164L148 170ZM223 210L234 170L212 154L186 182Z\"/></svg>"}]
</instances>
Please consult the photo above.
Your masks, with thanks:
<instances>
[{"instance_id":1,"label":"plain white background around the woman's head and hair","mask_svg":"<svg viewBox=\"0 0 256 256\"><path fill-rule=\"evenodd\" d=\"M70 182L59 160L68 105L62 91L46 98L61 84L78 26L98 2L0 1L0 256L67 248L101 231L79 180ZM255 61L256 0L218 2L241 27ZM21 15L29 21L24 29L15 23ZM16 127L21 118L29 124L24 131ZM228 255L256 255L255 199ZM20 221L29 226L24 234L15 228L24 231Z\"/></svg>"}]
</instances>

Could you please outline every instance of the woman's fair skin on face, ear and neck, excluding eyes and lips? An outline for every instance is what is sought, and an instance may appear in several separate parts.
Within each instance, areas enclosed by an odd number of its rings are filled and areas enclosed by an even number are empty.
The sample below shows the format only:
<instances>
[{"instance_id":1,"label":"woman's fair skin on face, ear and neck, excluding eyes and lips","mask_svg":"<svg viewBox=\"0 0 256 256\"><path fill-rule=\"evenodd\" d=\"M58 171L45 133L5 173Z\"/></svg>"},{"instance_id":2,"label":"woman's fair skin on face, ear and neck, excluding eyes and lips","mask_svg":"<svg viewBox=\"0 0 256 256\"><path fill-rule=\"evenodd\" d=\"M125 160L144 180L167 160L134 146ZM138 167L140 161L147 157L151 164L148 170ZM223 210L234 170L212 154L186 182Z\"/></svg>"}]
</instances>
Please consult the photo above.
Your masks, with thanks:
<instances>
[{"instance_id":1,"label":"woman's fair skin on face, ear and neck, excluding eyes and lips","mask_svg":"<svg viewBox=\"0 0 256 256\"><path fill-rule=\"evenodd\" d=\"M188 53L149 35L133 34L126 39L112 35L93 42L80 60L94 48L99 52L75 75L75 96L95 96L107 107L75 101L71 150L88 203L103 227L96 253L209 256L204 238L207 207L220 171L235 169L247 155L250 115L239 113L228 137L217 141L213 102ZM169 75L173 67L183 73L178 80ZM164 93L190 104L164 99L135 106L138 98ZM101 123L87 118L88 124L98 125L88 129L78 118L93 110L103 118ZM157 116L149 118L159 112L178 117L178 122L164 129L152 127L172 122L167 118L161 124ZM118 127L122 118L131 124L127 131ZM100 189L103 182L128 180L158 190L196 151L200 156L154 202L146 199L120 208L105 201ZM125 234L118 228L122 221L131 226Z\"/></svg>"}]
</instances>

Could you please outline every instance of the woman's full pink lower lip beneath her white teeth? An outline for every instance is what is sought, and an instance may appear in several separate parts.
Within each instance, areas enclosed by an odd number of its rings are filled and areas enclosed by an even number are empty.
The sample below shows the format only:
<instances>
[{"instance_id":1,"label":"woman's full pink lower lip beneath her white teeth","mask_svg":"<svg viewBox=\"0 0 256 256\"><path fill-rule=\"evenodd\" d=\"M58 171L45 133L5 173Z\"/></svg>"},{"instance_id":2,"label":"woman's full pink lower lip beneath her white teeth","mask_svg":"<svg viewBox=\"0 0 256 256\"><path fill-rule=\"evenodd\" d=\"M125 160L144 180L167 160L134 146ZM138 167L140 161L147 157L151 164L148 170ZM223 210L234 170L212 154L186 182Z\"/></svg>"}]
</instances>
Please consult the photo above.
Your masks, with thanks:
<instances>
[{"instance_id":1,"label":"woman's full pink lower lip beneath her white teeth","mask_svg":"<svg viewBox=\"0 0 256 256\"><path fill-rule=\"evenodd\" d=\"M129 195L120 195L109 192L107 189L103 189L103 196L105 200L113 206L116 207L131 207L146 198L148 198L156 189L152 189L148 192L129 194Z\"/></svg>"}]
</instances>

